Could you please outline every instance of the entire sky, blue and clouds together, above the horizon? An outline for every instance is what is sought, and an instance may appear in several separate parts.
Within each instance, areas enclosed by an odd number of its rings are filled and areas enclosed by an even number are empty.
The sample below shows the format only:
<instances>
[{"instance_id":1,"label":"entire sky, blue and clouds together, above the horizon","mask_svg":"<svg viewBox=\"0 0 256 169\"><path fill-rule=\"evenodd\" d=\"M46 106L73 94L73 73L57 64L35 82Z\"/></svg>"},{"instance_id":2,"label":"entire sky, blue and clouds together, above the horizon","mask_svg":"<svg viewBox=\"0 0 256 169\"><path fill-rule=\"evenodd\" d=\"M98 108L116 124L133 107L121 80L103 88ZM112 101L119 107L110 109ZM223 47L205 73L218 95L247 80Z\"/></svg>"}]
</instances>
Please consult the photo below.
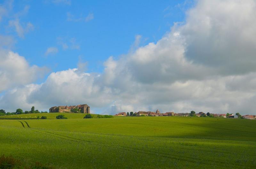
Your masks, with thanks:
<instances>
[{"instance_id":1,"label":"entire sky, blue and clouds together, above the horizon","mask_svg":"<svg viewBox=\"0 0 256 169\"><path fill-rule=\"evenodd\" d=\"M0 109L256 114L256 2L0 1Z\"/></svg>"}]
</instances>

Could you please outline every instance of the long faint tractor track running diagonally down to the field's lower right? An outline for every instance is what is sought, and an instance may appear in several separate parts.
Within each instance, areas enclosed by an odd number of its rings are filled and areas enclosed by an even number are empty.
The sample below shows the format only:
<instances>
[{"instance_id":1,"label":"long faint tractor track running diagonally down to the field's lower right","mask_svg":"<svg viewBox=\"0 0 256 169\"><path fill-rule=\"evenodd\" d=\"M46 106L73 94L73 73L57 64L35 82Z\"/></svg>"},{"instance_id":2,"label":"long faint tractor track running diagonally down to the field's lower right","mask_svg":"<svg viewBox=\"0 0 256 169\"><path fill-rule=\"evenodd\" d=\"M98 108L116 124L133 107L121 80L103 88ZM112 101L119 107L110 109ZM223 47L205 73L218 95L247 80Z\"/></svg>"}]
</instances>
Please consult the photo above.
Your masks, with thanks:
<instances>
[{"instance_id":1,"label":"long faint tractor track running diagonally down to the field's lower right","mask_svg":"<svg viewBox=\"0 0 256 169\"><path fill-rule=\"evenodd\" d=\"M56 133L51 133L51 132L48 132L48 131L38 131L38 130L32 130L34 132L37 132L37 133L42 133L42 134L45 134L45 135L48 135L48 136L53 136L53 137L57 137L57 138L60 138L60 139L63 139L63 140L67 140L67 141L72 141L72 142L78 142L78 143L81 143L82 142L86 142L86 143L93 143L93 144L96 144L96 145L100 145L100 146L103 146L103 147L108 147L108 148L120 148L120 149L123 149L125 151L137 151L138 153L141 153L141 154L148 154L148 155L155 155L155 156L161 156L163 158L170 158L170 159L175 159L175 160L179 160L179 161L188 161L188 162L192 162L192 163L198 163L198 159L196 158L191 158L191 157L184 157L184 156L178 156L178 155L173 155L173 154L169 154L169 153L159 153L159 152L155 152L155 151L148 151L148 150L141 150L141 149L138 149L138 148L129 148L129 147L125 147L125 146L117 146L117 145L110 145L108 143L97 143L97 142L92 142L92 141L87 141L87 140L83 140L83 139L77 139L77 138L73 138L73 137L69 137L69 136L63 136L61 134L56 134ZM204 164L204 165L209 165L209 161L211 162L216 162L215 160L208 160L207 162L202 162L200 161L200 164ZM222 167L226 167L226 162L219 162L219 164L221 163L221 165L218 165L218 166L222 166ZM243 167L243 165L236 165L236 167Z\"/></svg>"}]
</instances>

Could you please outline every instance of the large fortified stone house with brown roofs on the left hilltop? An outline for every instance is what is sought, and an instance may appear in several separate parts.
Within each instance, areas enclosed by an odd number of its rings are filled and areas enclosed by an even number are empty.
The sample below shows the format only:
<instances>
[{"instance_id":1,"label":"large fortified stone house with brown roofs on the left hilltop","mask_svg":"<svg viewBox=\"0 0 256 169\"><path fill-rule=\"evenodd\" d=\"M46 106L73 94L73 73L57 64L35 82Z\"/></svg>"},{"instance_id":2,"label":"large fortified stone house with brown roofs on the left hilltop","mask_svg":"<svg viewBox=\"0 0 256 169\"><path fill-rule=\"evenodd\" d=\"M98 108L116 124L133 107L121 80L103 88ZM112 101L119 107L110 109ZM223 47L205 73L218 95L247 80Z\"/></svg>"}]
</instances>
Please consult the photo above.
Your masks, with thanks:
<instances>
[{"instance_id":1,"label":"large fortified stone house with brown roofs on the left hilltop","mask_svg":"<svg viewBox=\"0 0 256 169\"><path fill-rule=\"evenodd\" d=\"M77 106L54 106L49 109L50 113L57 113L57 112L71 112L71 110L77 108L81 113L88 113L90 114L90 107L87 104L77 105Z\"/></svg>"}]
</instances>

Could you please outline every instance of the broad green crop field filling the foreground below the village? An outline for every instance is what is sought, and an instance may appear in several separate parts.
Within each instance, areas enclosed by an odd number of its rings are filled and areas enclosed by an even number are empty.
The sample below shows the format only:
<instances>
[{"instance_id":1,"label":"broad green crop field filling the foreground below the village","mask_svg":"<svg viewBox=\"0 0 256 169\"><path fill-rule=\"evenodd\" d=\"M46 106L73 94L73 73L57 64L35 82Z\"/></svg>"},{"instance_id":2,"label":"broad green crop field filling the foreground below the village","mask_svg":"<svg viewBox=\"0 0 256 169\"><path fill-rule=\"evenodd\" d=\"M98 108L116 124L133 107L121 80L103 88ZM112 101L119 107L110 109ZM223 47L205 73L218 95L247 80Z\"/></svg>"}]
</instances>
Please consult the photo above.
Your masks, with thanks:
<instances>
[{"instance_id":1,"label":"broad green crop field filling the foreground below the village","mask_svg":"<svg viewBox=\"0 0 256 169\"><path fill-rule=\"evenodd\" d=\"M256 168L255 127L201 117L0 120L0 155L53 168Z\"/></svg>"}]
</instances>

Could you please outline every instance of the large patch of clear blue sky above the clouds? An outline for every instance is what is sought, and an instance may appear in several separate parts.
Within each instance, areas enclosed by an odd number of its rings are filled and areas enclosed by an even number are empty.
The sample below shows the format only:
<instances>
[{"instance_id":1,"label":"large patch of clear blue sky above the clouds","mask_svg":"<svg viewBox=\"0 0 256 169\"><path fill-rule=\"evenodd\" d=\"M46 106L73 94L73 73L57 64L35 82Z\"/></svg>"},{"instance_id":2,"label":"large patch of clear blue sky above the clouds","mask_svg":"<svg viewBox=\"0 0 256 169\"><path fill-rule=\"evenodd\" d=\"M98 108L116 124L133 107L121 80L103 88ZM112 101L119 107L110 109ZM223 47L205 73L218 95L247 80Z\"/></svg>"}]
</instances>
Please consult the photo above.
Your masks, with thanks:
<instances>
[{"instance_id":1,"label":"large patch of clear blue sky above the clouds","mask_svg":"<svg viewBox=\"0 0 256 169\"><path fill-rule=\"evenodd\" d=\"M187 6L178 0L14 1L12 13L27 7L20 21L32 23L34 29L20 38L4 26L10 19L6 17L1 33L15 37L14 51L25 56L30 65L60 71L76 68L80 59L87 62L88 72L102 72L102 64L109 56L118 58L129 52L136 35L142 36L140 45L161 39L174 22L184 20ZM90 14L93 17L86 21ZM63 43L69 47L63 49ZM70 47L72 43L76 47ZM58 48L58 52L46 56L49 47Z\"/></svg>"}]
</instances>

